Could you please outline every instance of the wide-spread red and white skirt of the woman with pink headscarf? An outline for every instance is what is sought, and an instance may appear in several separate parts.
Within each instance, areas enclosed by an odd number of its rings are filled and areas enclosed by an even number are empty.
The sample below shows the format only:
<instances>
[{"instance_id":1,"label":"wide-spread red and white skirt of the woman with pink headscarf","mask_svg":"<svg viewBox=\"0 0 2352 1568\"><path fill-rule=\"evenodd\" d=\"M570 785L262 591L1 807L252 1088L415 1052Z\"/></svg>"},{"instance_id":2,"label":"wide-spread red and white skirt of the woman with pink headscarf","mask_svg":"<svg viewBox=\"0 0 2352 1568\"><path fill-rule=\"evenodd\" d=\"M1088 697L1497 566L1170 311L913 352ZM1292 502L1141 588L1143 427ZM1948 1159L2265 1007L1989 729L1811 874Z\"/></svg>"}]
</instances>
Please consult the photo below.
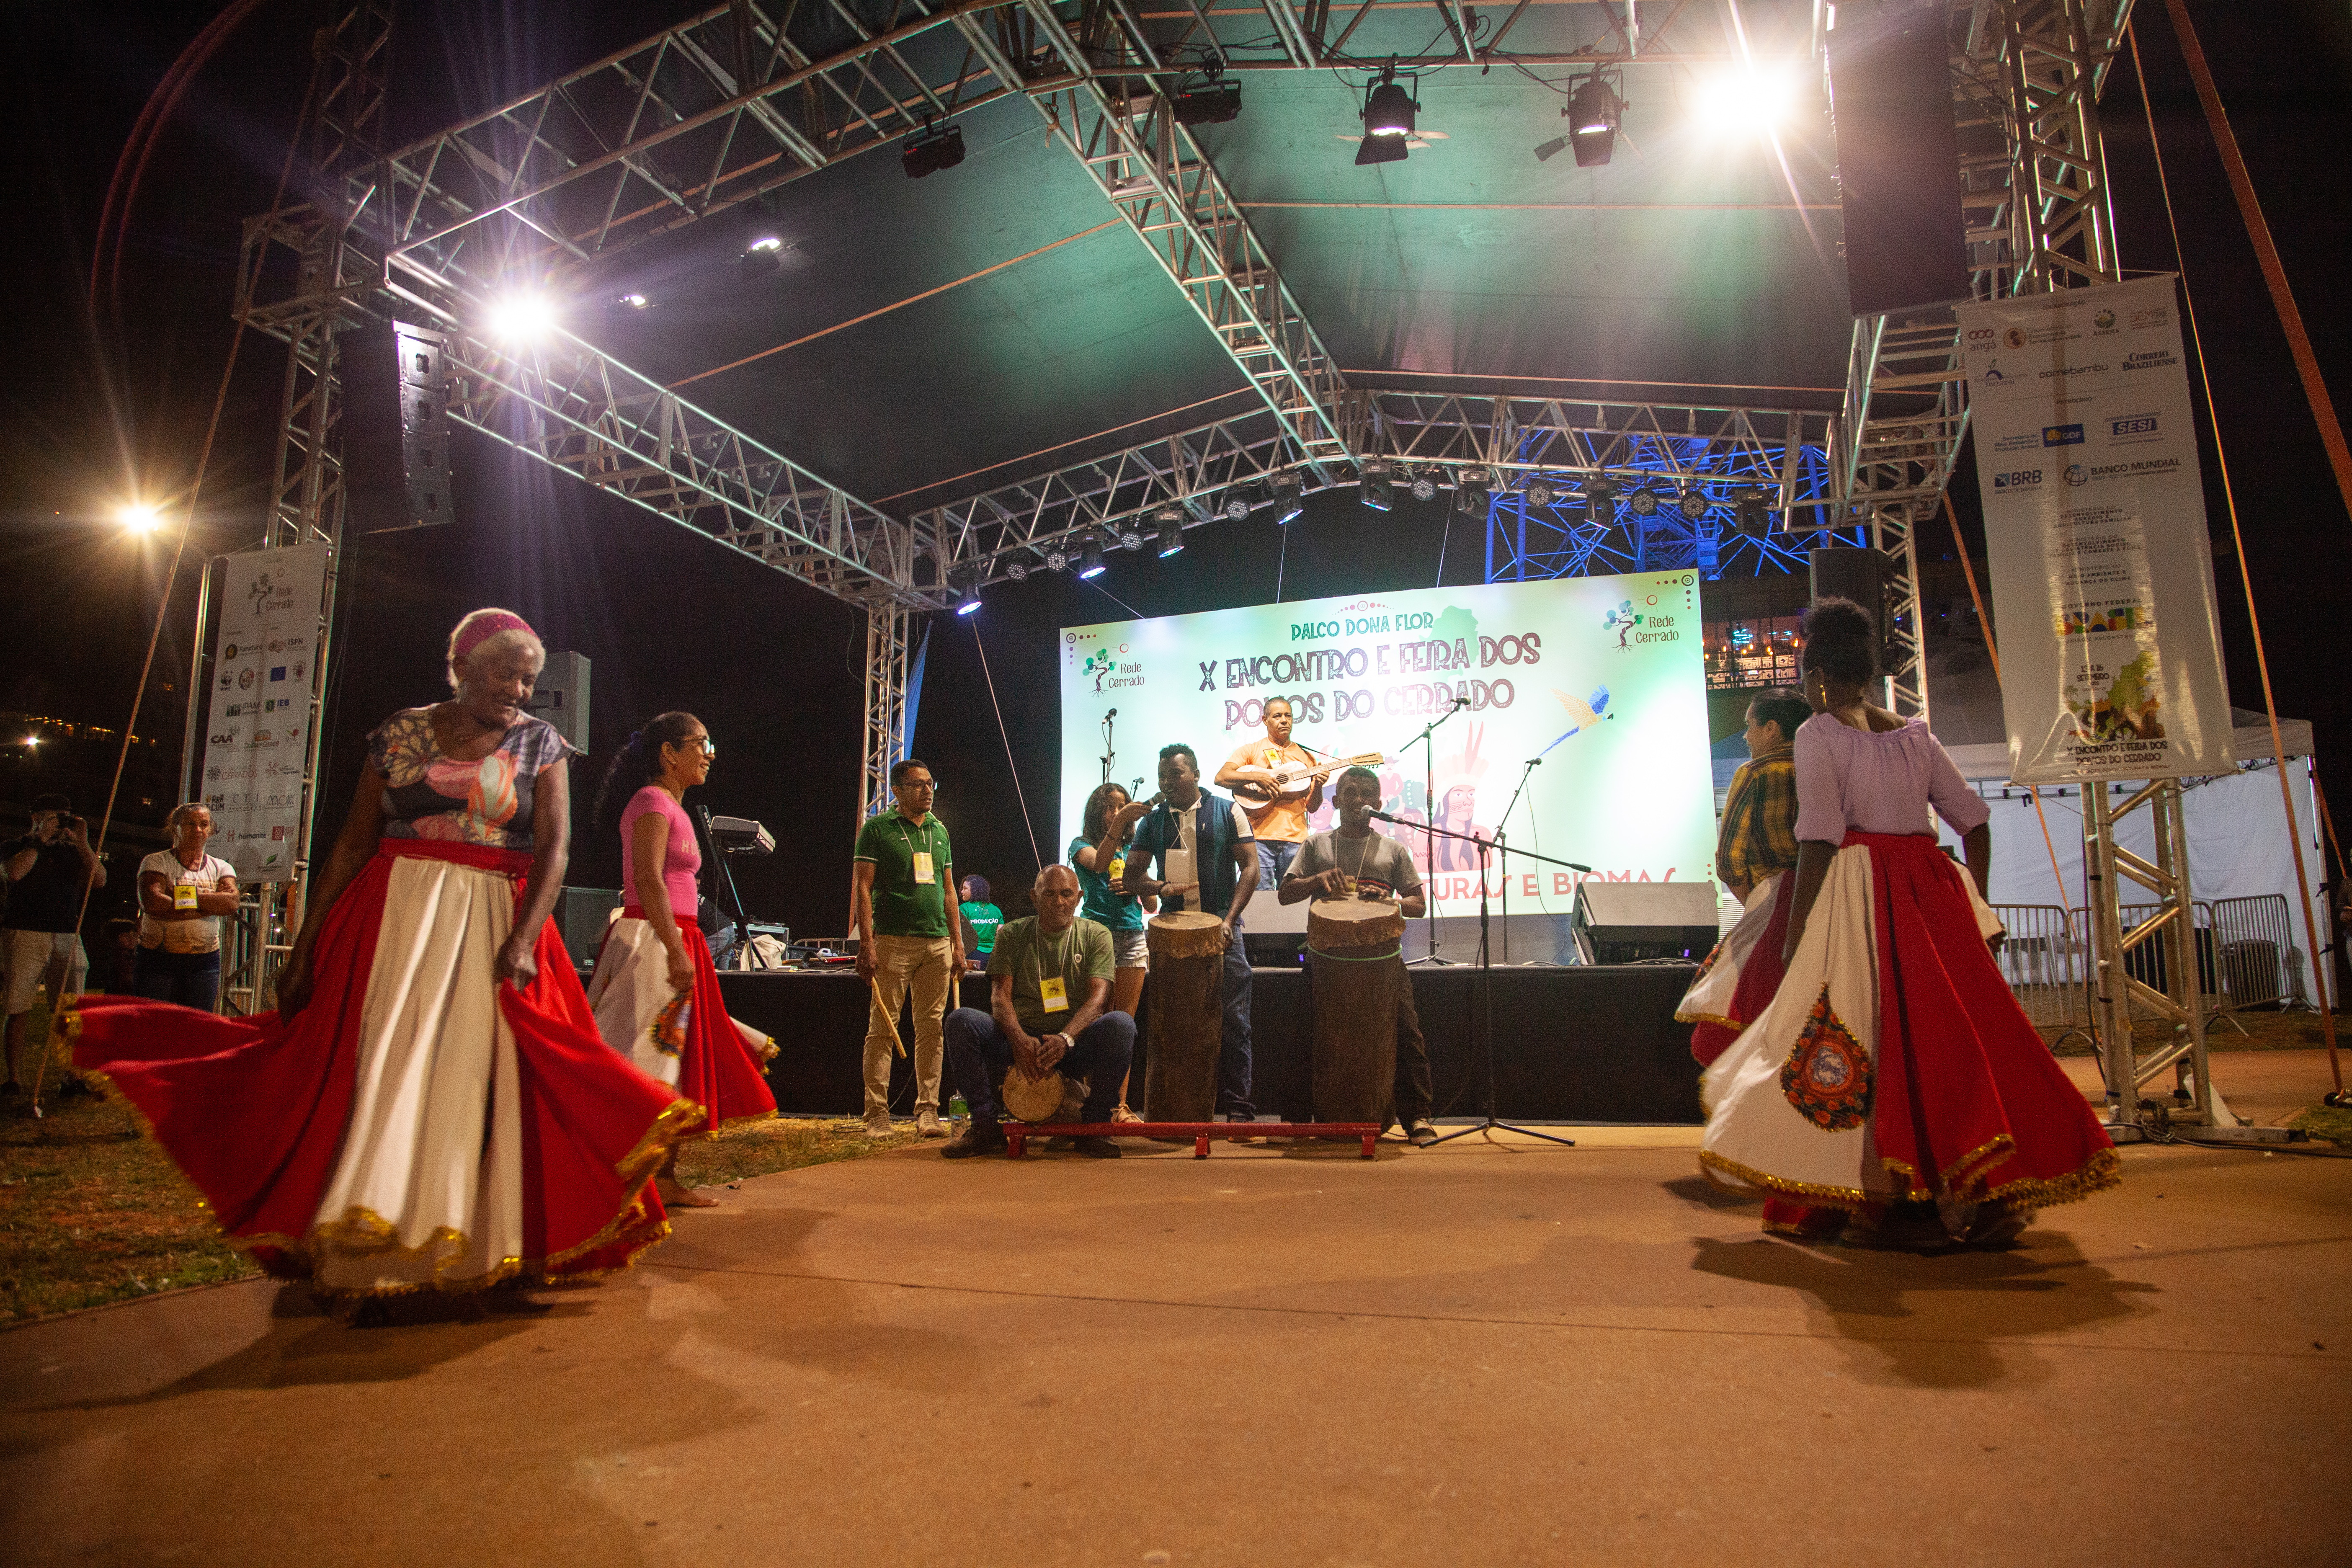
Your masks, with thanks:
<instances>
[{"instance_id":1,"label":"wide-spread red and white skirt of the woman with pink headscarf","mask_svg":"<svg viewBox=\"0 0 2352 1568\"><path fill-rule=\"evenodd\" d=\"M647 1180L703 1110L604 1046L553 922L539 976L494 980L527 870L383 839L327 910L292 1020L87 997L75 1065L280 1279L388 1295L628 1267L670 1232Z\"/></svg>"}]
</instances>

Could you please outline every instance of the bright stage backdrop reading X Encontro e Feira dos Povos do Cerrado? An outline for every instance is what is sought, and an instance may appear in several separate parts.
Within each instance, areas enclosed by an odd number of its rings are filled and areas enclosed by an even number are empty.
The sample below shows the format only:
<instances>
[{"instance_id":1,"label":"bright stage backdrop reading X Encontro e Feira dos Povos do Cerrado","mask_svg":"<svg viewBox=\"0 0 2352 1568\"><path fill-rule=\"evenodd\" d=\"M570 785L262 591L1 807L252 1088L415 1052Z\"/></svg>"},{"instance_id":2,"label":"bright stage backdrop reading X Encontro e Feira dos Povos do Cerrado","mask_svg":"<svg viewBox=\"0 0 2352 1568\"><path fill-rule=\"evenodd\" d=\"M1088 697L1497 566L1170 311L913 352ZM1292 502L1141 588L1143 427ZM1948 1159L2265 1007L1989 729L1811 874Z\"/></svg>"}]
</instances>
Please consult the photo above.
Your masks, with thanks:
<instances>
[{"instance_id":1,"label":"bright stage backdrop reading X Encontro e Feira dos Povos do Cerrado","mask_svg":"<svg viewBox=\"0 0 2352 1568\"><path fill-rule=\"evenodd\" d=\"M1110 778L1157 792L1160 748L1185 743L1202 783L1265 738L1265 701L1284 696L1296 741L1319 755L1381 752L1383 809L1482 837L1510 811L1515 849L1583 860L1611 882L1705 882L1715 853L1708 675L1698 576L1555 578L1479 588L1303 599L1200 616L1115 621L1061 632L1061 830L1077 835L1103 780L1105 717L1117 710ZM1458 712L1456 701L1468 701ZM1454 712L1428 757L1414 743ZM1216 788L1216 785L1211 785ZM1218 795L1225 790L1218 788ZM1310 830L1334 825L1331 790ZM1374 823L1423 867L1435 898L1477 900L1477 851L1432 851L1409 827ZM1486 891L1503 893L1501 863ZM1578 877L1512 858L1512 912L1566 914ZM1272 919L1272 893L1261 891ZM1526 900L1522 905L1522 900ZM1249 919L1258 919L1251 905Z\"/></svg>"}]
</instances>

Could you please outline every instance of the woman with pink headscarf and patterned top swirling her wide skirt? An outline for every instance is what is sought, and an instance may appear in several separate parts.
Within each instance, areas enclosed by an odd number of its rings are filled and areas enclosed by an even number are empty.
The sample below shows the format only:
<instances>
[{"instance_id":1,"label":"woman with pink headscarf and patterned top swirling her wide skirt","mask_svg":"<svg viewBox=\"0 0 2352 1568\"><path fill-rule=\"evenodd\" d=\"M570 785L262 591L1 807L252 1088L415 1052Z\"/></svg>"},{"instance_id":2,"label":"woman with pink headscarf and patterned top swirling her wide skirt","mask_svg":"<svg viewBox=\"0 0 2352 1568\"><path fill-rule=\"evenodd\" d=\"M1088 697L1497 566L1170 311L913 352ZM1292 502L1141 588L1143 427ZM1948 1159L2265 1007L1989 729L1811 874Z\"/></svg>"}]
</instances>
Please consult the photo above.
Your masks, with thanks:
<instances>
[{"instance_id":1,"label":"woman with pink headscarf and patterned top swirling her wide skirt","mask_svg":"<svg viewBox=\"0 0 2352 1568\"><path fill-rule=\"evenodd\" d=\"M572 748L522 710L543 663L477 609L454 696L367 738L275 1013L89 997L71 1025L228 1239L336 1302L593 1276L668 1234L647 1182L703 1112L604 1046L548 924Z\"/></svg>"}]
</instances>

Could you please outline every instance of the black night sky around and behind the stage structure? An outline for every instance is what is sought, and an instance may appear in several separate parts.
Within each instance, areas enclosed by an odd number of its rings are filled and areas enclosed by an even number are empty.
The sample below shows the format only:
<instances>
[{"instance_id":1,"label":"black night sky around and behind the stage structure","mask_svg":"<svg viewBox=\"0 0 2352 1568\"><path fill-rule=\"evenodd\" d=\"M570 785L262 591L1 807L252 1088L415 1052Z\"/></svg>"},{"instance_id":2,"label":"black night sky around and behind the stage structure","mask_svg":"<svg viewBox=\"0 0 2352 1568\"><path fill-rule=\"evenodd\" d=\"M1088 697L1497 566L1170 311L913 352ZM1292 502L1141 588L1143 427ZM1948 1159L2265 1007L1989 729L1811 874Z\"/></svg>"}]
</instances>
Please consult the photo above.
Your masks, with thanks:
<instances>
[{"instance_id":1,"label":"black night sky around and behind the stage structure","mask_svg":"<svg viewBox=\"0 0 2352 1568\"><path fill-rule=\"evenodd\" d=\"M2352 315L2343 256L2352 254L2345 148L2352 148L2352 14L2336 0L2274 7L2199 0L2190 7L2220 78L2232 125L2253 167L2288 277L2338 407L2352 411ZM115 503L186 496L221 367L238 223L268 205L308 73L318 7L261 5L193 80L139 172L120 230L101 233L118 158L165 71L205 26L191 5L12 5L7 193L9 310L5 381L9 430L0 442L0 508L12 604L0 654L0 712L49 715L120 729L153 630L167 548L111 524ZM468 108L532 87L644 33L654 7L402 5L393 141ZM2185 268L2213 367L2230 475L2237 484L2253 590L2281 715L2317 724L2321 776L2352 799L2352 703L2331 628L2345 597L2347 517L2317 428L2256 273L2253 247L2161 5L2138 7L2140 56L2166 153L2183 254L2166 228L2150 158L2140 82L2129 54L2103 103L2110 179L2131 270ZM887 158L887 155L884 155ZM96 261L96 294L92 270ZM155 686L139 733L176 755L193 571L205 555L259 536L282 350L247 339L205 482L191 564L172 595ZM2201 402L2201 400L2199 400ZM943 411L953 416L953 411ZM2230 689L2260 708L2246 592L2230 550L2211 442L2201 430L2216 585L2227 635ZM920 430L880 433L922 440ZM781 574L494 442L454 451L461 522L369 536L350 552L346 611L329 693L329 785L320 832L334 832L360 757L360 736L386 712L440 696L437 649L475 604L529 616L550 649L595 661L595 748L574 776L593 795L612 750L642 717L691 708L713 729L722 762L708 799L717 811L767 820L779 856L746 875L760 919L800 933L847 924L847 865L856 802L861 701L858 616ZM1973 458L1964 454L1955 501L1976 529ZM1284 538L1287 534L1287 538ZM1188 534L1171 562L1117 555L1101 588L1040 574L1002 583L974 621L938 616L917 755L941 776L941 816L955 830L960 870L1000 889L1035 865L1021 825L1007 741L1025 785L1040 851L1058 851L1051 780L1058 759L1054 630L1065 623L1181 614L1275 597L1378 592L1484 576L1479 527L1444 501L1374 517L1350 491L1310 503L1275 529L1263 515ZM1442 574L1442 578L1439 578ZM1117 595L1112 599L1110 595ZM1802 597L1802 590L1799 590ZM983 677L985 644L990 684ZM174 689L165 691L162 682ZM1004 729L997 710L1002 705ZM0 743L9 741L0 733ZM1124 738L1143 757L1145 741ZM1192 736L1214 750L1214 736ZM1143 771L1141 762L1122 773ZM40 783L21 755L0 773L0 832ZM78 802L96 813L99 799ZM127 811L153 825L162 804ZM619 851L581 837L574 877L614 886ZM1000 900L1007 903L1007 900Z\"/></svg>"}]
</instances>

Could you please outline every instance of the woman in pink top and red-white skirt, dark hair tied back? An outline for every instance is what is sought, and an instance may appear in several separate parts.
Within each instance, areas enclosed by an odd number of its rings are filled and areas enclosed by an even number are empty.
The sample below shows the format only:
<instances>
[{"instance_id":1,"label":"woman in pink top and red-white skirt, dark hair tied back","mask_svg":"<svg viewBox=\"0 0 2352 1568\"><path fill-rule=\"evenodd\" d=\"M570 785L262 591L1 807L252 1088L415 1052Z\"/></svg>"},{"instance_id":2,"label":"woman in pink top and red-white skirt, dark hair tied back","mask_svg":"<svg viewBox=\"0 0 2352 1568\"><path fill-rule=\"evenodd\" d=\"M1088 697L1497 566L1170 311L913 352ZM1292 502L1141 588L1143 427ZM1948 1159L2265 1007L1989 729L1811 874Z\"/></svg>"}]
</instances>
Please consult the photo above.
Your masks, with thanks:
<instances>
[{"instance_id":1,"label":"woman in pink top and red-white skirt, dark hair tied back","mask_svg":"<svg viewBox=\"0 0 2352 1568\"><path fill-rule=\"evenodd\" d=\"M710 947L694 924L703 867L684 795L710 778L717 748L691 712L666 712L628 738L597 792L597 827L621 835L621 917L604 933L588 1004L604 1044L656 1084L708 1112L694 1138L776 1114L760 1074L776 1044L739 1025L720 999ZM677 1180L677 1150L654 1175L670 1208L715 1208Z\"/></svg>"}]
</instances>

